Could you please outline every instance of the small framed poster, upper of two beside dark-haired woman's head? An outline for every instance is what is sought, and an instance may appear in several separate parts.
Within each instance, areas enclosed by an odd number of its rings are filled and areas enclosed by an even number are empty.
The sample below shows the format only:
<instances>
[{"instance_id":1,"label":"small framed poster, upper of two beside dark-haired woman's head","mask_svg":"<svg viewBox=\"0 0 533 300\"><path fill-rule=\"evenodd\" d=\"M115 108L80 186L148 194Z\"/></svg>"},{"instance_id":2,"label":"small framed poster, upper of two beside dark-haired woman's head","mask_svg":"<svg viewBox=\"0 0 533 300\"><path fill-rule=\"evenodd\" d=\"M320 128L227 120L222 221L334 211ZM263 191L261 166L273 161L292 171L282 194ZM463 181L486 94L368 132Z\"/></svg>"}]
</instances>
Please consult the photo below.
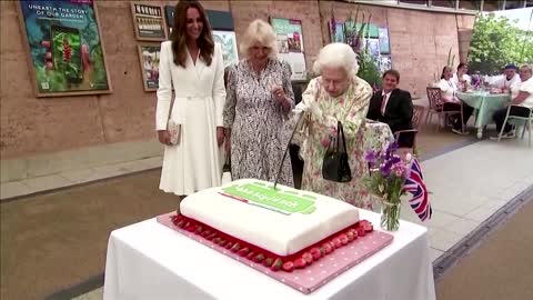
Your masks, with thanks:
<instances>
[{"instance_id":1,"label":"small framed poster, upper of two beside dark-haired woman's head","mask_svg":"<svg viewBox=\"0 0 533 300\"><path fill-rule=\"evenodd\" d=\"M163 10L159 6L142 2L131 3L135 37L140 41L164 41L167 29L163 20Z\"/></svg>"}]
</instances>

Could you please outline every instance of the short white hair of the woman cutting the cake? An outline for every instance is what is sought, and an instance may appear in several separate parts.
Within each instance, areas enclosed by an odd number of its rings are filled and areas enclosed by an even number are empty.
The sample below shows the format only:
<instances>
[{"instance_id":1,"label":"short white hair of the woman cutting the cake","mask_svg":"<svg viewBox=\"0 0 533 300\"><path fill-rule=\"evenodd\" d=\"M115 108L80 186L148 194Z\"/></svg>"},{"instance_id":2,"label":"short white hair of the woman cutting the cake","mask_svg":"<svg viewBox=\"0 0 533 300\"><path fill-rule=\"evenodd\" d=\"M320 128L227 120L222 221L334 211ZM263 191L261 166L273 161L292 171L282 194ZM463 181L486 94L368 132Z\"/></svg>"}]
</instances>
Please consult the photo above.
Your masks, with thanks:
<instances>
[{"instance_id":1,"label":"short white hair of the woman cutting the cake","mask_svg":"<svg viewBox=\"0 0 533 300\"><path fill-rule=\"evenodd\" d=\"M320 50L314 62L314 73L322 73L324 67L342 68L349 76L355 76L359 72L358 54L346 43L334 42L326 44Z\"/></svg>"}]
</instances>

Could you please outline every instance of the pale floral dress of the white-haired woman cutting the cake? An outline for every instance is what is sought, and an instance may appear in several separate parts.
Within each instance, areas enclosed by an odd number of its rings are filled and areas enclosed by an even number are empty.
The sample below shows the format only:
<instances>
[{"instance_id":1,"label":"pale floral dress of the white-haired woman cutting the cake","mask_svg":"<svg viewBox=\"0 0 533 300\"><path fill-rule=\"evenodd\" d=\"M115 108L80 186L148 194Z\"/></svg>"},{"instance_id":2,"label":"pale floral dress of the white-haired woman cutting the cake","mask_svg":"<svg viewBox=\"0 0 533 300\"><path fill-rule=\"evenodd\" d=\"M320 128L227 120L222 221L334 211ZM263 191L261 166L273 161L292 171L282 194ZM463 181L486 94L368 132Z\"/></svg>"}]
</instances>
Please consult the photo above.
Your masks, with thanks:
<instances>
[{"instance_id":1,"label":"pale floral dress of the white-haired woman cutting the cake","mask_svg":"<svg viewBox=\"0 0 533 300\"><path fill-rule=\"evenodd\" d=\"M346 201L360 208L371 208L370 196L362 183L366 176L365 120L372 88L359 77L353 77L348 90L333 98L320 87L321 78L311 80L302 96L303 106L315 106L322 116L304 118L306 140L303 147L304 160L302 189ZM341 121L352 172L352 181L339 183L322 178L322 162L330 144L330 137L336 138L338 121ZM333 146L333 144L332 144Z\"/></svg>"}]
</instances>

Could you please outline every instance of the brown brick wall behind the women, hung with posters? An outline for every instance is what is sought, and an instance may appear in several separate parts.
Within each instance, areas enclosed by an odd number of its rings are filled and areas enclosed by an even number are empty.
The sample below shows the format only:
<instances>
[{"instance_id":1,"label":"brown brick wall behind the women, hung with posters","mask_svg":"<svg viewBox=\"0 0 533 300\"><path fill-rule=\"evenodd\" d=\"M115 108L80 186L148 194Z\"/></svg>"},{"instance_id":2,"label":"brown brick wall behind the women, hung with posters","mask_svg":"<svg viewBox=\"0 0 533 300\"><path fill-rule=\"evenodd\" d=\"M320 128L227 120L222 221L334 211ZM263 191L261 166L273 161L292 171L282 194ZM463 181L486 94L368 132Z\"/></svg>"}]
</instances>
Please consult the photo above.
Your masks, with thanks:
<instances>
[{"instance_id":1,"label":"brown brick wall behind the women, hung with posters","mask_svg":"<svg viewBox=\"0 0 533 300\"><path fill-rule=\"evenodd\" d=\"M174 4L175 1L151 1ZM299 1L202 1L207 9L231 11L237 37L254 19L269 16L302 20L308 68L329 42L331 9L339 21L355 4ZM98 1L111 94L38 99L19 26L17 1L0 1L0 154L2 159L80 147L154 138L155 93L144 92L129 1ZM401 86L425 93L452 47L459 61L457 34L472 29L473 17L360 6L372 22L389 27L392 63ZM459 30L457 30L459 29ZM457 31L460 33L457 33ZM465 48L466 47L466 48ZM462 56L467 49L462 42Z\"/></svg>"}]
</instances>

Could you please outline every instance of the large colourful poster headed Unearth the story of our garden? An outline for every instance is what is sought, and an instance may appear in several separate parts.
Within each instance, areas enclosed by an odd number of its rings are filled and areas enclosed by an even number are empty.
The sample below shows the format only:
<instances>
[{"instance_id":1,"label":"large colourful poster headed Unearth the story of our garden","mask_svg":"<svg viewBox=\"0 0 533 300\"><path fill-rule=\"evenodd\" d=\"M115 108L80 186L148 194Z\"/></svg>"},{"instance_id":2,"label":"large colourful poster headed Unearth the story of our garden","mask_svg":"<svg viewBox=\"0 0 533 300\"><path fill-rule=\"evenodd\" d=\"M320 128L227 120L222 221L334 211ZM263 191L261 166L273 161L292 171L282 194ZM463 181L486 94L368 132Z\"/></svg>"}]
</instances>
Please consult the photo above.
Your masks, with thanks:
<instances>
[{"instance_id":1,"label":"large colourful poster headed Unearth the story of our garden","mask_svg":"<svg viewBox=\"0 0 533 300\"><path fill-rule=\"evenodd\" d=\"M93 0L21 0L18 10L37 97L111 92Z\"/></svg>"}]
</instances>

